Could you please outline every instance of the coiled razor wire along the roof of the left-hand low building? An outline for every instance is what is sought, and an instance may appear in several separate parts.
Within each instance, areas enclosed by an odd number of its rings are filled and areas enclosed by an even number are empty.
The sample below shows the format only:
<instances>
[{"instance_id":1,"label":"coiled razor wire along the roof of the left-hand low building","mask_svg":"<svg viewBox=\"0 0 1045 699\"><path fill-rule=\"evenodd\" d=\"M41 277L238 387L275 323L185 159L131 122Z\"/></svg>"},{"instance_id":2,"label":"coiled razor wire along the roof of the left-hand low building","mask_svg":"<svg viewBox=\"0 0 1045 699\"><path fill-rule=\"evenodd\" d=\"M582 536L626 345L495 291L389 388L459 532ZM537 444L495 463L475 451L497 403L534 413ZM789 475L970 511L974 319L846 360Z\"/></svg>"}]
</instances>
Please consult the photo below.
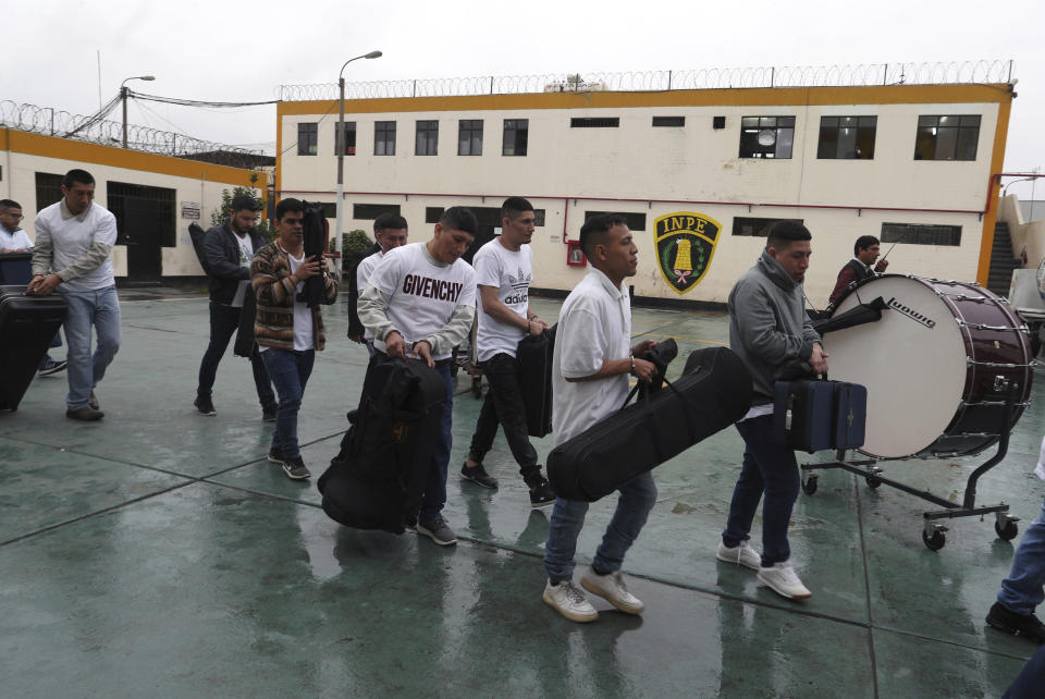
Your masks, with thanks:
<instances>
[{"instance_id":1,"label":"coiled razor wire along the roof of the left-hand low building","mask_svg":"<svg viewBox=\"0 0 1045 699\"><path fill-rule=\"evenodd\" d=\"M34 134L69 137L103 146L118 146L123 143L122 123L111 120L87 123L89 121L90 118L88 116L49 107L0 100L0 125ZM162 156L206 160L207 162L248 169L259 164L262 154L261 150L228 146L136 124L127 124L127 147L133 150Z\"/></svg>"}]
</instances>

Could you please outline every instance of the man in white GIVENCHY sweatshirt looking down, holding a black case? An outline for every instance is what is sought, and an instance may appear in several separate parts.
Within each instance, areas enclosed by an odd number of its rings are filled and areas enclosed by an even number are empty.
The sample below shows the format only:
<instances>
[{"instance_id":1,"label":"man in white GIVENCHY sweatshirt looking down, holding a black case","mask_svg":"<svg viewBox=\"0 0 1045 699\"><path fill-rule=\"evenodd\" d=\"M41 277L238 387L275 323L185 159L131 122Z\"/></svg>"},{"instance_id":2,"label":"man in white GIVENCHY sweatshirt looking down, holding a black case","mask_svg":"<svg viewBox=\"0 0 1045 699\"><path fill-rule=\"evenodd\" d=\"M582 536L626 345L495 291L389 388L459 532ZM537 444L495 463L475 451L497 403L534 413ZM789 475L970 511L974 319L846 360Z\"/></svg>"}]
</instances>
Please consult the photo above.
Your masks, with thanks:
<instances>
[{"instance_id":1,"label":"man in white GIVENCHY sweatshirt looking down, holding a black case","mask_svg":"<svg viewBox=\"0 0 1045 699\"><path fill-rule=\"evenodd\" d=\"M452 445L454 391L450 364L454 347L476 317L476 271L460 259L476 236L476 216L446 209L432 240L397 247L373 270L359 294L359 320L373 334L374 361L419 357L446 385L443 419L429 468L417 531L440 545L457 543L442 517Z\"/></svg>"}]
</instances>

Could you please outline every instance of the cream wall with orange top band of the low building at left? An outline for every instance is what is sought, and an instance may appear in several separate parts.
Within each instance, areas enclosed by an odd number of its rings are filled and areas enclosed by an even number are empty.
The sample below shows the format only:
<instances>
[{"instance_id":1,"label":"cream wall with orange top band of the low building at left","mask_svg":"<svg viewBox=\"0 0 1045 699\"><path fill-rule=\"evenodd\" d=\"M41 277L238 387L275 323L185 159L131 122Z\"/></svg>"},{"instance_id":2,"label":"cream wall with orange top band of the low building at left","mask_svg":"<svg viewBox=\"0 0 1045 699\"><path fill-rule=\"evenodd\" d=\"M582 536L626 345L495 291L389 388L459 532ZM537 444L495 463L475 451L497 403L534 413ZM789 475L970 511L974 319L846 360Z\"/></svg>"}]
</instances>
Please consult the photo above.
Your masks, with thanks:
<instances>
[{"instance_id":1,"label":"cream wall with orange top band of the low building at left","mask_svg":"<svg viewBox=\"0 0 1045 699\"><path fill-rule=\"evenodd\" d=\"M38 201L40 191L38 174L64 175L73 168L89 172L96 182L95 201L110 208L111 191L115 183L124 188L142 191L162 189L173 206L143 205L144 220L156 221L164 230L173 229L173 236L159 244L160 278L202 277L188 236L188 225L194 221L204 229L211 226L211 212L220 208L222 192L236 186L253 187L263 198L268 187L265 172L230 168L196 160L173 158L156 154L127 150L114 146L84 143L73 139L33 134L13 128L0 128L0 198L14 199L22 205L22 228L35 240L36 212L58 200ZM127 220L122 221L121 238L156 240L152 226L149 230L128 231ZM140 220L140 219L139 219ZM113 268L118 278L142 278L136 274L127 244L113 248Z\"/></svg>"}]
</instances>

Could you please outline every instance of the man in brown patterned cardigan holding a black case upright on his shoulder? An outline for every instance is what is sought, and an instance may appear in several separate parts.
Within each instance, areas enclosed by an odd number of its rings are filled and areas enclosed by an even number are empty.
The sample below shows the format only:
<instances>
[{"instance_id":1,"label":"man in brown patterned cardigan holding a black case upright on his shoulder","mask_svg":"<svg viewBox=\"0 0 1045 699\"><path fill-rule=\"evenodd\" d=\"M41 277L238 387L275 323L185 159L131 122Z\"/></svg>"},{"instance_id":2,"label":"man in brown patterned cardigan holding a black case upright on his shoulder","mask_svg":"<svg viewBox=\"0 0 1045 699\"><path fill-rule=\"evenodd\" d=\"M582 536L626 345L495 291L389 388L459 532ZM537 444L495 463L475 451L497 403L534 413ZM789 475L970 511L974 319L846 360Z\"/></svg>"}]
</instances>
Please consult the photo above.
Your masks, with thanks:
<instances>
[{"instance_id":1,"label":"man in brown patterned cardigan holding a black case upright on his shoulder","mask_svg":"<svg viewBox=\"0 0 1045 699\"><path fill-rule=\"evenodd\" d=\"M303 480L311 474L297 444L297 413L316 351L323 348L325 335L319 307L309 308L297 296L306 279L321 274L323 303L332 304L337 298L337 282L327 274L322 260L305 257L302 201L283 199L275 207L275 219L279 237L258 250L250 263L250 285L258 299L254 334L280 395L269 461L282 464L288 477Z\"/></svg>"}]
</instances>

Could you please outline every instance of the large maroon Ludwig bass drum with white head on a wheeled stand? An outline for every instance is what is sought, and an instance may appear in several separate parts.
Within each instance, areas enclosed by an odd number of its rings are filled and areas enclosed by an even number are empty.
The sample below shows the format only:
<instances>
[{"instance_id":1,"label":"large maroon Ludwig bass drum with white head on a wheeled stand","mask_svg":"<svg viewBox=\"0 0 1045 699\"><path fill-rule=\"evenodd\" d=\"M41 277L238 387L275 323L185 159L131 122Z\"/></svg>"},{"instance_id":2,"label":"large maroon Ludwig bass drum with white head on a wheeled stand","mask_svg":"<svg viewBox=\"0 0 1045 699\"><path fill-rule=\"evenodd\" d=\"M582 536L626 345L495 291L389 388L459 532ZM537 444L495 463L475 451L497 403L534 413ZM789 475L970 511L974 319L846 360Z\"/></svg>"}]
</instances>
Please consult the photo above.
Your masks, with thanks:
<instances>
[{"instance_id":1,"label":"large maroon Ludwig bass drum with white head on a wheeled stand","mask_svg":"<svg viewBox=\"0 0 1045 699\"><path fill-rule=\"evenodd\" d=\"M997 443L1006 387L1011 430L1031 394L1026 327L978 284L885 274L858 284L834 315L881 297L876 322L824 335L829 377L868 388L866 439L875 458L966 456Z\"/></svg>"}]
</instances>

